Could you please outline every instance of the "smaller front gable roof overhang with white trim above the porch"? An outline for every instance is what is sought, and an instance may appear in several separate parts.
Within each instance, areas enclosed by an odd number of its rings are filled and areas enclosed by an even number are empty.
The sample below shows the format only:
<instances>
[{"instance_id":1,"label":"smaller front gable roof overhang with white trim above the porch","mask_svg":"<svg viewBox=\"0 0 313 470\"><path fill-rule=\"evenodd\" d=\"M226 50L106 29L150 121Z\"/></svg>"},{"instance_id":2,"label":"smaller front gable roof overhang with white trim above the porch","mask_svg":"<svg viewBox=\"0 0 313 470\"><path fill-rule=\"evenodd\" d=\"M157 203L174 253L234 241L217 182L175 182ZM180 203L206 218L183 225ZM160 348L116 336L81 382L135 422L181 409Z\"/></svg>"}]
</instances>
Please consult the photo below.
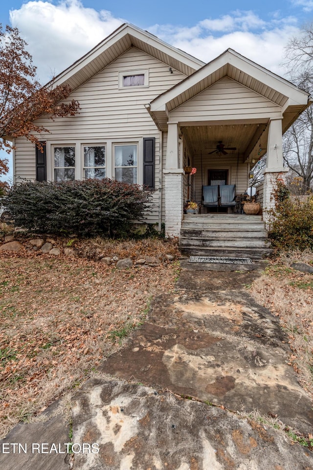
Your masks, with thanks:
<instances>
[{"instance_id":1,"label":"smaller front gable roof overhang with white trim above the porch","mask_svg":"<svg viewBox=\"0 0 313 470\"><path fill-rule=\"evenodd\" d=\"M226 49L194 74L187 76L170 90L156 97L147 108L155 121L162 122L162 127L173 109L192 99L224 76L232 78L281 106L282 112L286 112L286 120L283 123L285 130L312 102L310 93L301 90L235 50Z\"/></svg>"}]
</instances>

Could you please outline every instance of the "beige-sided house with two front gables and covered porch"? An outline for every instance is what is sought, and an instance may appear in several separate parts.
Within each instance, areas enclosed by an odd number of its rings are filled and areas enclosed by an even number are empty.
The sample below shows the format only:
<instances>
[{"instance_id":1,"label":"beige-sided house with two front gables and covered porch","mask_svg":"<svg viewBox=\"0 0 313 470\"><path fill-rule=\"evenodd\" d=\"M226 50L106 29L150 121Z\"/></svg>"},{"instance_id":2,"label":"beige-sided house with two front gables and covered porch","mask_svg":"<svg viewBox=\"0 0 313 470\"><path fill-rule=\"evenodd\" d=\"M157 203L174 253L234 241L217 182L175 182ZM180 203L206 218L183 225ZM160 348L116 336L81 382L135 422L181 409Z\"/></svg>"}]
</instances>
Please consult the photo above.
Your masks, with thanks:
<instances>
[{"instance_id":1,"label":"beige-sided house with two front gables and covered porch","mask_svg":"<svg viewBox=\"0 0 313 470\"><path fill-rule=\"evenodd\" d=\"M282 134L309 94L232 49L205 64L147 31L124 24L56 77L81 110L36 122L45 152L15 141L14 178L109 177L155 189L149 223L178 236L187 197L202 187L249 185L267 153L263 207L283 167ZM184 168L196 167L188 176ZM207 210L207 209L205 209Z\"/></svg>"}]
</instances>

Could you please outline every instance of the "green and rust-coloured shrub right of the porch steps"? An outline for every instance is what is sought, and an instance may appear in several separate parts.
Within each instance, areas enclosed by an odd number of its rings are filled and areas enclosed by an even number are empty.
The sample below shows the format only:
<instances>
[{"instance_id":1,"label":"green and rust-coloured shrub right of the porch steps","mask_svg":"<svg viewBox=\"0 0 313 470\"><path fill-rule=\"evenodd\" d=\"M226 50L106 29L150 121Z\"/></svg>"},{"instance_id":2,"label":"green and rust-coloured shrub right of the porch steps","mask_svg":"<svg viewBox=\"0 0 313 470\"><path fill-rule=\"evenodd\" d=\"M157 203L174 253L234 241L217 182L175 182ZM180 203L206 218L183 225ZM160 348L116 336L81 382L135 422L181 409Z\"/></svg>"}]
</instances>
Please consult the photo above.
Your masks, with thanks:
<instances>
[{"instance_id":1,"label":"green and rust-coloured shrub right of the porch steps","mask_svg":"<svg viewBox=\"0 0 313 470\"><path fill-rule=\"evenodd\" d=\"M279 250L313 249L313 198L305 202L290 199L284 183L274 191L275 208L269 211L269 237Z\"/></svg>"}]
</instances>

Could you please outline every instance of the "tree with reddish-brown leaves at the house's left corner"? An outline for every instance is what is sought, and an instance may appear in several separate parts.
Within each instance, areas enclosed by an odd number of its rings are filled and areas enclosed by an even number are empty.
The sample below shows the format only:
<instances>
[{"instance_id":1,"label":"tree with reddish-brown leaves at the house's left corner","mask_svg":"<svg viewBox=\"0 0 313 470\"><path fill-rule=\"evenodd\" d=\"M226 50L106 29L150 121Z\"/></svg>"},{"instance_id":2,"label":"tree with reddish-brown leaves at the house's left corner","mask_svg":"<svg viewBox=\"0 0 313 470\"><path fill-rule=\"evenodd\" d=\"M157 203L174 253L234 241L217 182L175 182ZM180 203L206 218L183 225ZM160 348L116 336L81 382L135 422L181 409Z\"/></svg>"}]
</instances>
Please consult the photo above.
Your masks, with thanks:
<instances>
[{"instance_id":1,"label":"tree with reddish-brown leaves at the house's left corner","mask_svg":"<svg viewBox=\"0 0 313 470\"><path fill-rule=\"evenodd\" d=\"M25 50L26 42L18 28L0 25L0 149L8 153L14 148L11 139L26 137L40 147L36 134L49 132L34 124L42 114L51 120L74 116L78 101L68 101L67 85L55 86L52 79L42 86L36 79L36 67ZM10 139L10 140L9 140ZM8 171L7 160L0 160L0 174Z\"/></svg>"}]
</instances>

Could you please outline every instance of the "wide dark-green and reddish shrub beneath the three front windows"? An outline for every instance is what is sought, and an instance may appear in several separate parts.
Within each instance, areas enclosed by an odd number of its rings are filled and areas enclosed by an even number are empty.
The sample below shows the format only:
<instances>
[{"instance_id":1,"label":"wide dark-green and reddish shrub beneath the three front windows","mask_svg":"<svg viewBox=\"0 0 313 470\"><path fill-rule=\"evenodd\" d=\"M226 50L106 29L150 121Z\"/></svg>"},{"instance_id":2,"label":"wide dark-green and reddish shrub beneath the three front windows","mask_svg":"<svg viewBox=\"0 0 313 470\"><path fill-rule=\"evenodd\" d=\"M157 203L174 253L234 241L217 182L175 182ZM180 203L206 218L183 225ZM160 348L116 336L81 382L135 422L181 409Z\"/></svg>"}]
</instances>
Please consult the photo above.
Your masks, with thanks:
<instances>
[{"instance_id":1,"label":"wide dark-green and reddish shrub beneath the three front windows","mask_svg":"<svg viewBox=\"0 0 313 470\"><path fill-rule=\"evenodd\" d=\"M15 225L38 233L122 236L140 220L151 192L111 179L14 185L5 205Z\"/></svg>"}]
</instances>

